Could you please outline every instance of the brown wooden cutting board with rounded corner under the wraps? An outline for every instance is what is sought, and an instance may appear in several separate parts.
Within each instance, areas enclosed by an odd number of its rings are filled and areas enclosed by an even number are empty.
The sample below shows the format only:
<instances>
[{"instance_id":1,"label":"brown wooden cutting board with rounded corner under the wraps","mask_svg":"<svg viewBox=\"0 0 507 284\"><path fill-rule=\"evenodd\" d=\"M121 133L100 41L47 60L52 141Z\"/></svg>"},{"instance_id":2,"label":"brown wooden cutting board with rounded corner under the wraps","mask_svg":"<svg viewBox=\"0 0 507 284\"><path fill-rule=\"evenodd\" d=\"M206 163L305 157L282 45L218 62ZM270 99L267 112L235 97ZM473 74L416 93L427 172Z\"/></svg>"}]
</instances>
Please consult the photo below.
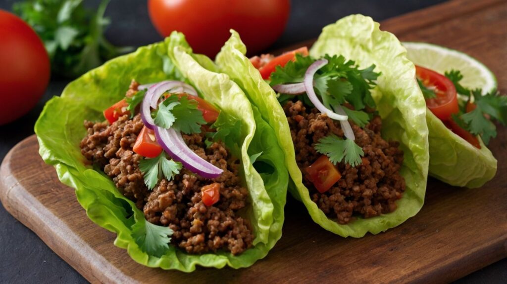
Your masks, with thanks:
<instances>
[{"instance_id":1,"label":"brown wooden cutting board with rounded corner under the wraps","mask_svg":"<svg viewBox=\"0 0 507 284\"><path fill-rule=\"evenodd\" d=\"M476 57L507 92L507 2L449 2L384 21L381 28L401 40L437 43ZM341 238L313 223L289 197L281 240L265 259L239 270L198 268L188 274L135 263L44 164L35 136L4 159L0 198L91 282L448 282L507 257L506 143L507 129L500 127L490 144L498 159L492 181L466 190L430 178L420 213L378 235Z\"/></svg>"}]
</instances>

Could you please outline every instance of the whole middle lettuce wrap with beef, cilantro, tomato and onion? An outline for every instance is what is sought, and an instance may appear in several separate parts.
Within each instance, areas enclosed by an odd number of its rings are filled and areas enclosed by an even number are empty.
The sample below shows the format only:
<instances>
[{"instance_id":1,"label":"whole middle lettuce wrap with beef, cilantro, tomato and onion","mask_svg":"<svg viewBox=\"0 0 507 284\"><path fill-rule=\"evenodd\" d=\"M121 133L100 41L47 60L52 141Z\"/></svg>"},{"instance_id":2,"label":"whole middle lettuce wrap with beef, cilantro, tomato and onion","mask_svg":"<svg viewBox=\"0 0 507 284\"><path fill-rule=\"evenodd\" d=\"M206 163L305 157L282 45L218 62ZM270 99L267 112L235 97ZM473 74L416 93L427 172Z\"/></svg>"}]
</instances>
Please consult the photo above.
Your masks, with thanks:
<instances>
[{"instance_id":1,"label":"whole middle lettuce wrap with beef, cilantro, tomato and onion","mask_svg":"<svg viewBox=\"0 0 507 284\"><path fill-rule=\"evenodd\" d=\"M289 191L316 223L361 237L421 209L426 108L414 64L393 34L353 15L325 27L309 56L304 48L276 58L245 53L232 31L216 63L274 128Z\"/></svg>"}]
</instances>

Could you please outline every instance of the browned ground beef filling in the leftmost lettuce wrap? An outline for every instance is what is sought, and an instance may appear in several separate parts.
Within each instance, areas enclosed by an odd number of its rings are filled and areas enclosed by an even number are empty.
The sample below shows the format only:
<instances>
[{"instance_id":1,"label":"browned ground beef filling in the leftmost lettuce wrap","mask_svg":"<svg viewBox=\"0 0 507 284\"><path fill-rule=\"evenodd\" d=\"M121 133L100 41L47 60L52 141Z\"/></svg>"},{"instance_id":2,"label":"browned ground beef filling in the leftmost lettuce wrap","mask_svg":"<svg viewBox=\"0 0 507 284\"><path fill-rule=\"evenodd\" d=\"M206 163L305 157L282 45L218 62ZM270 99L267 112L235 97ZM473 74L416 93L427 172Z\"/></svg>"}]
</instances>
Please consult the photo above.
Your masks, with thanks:
<instances>
[{"instance_id":1,"label":"browned ground beef filling in the leftmost lettuce wrap","mask_svg":"<svg viewBox=\"0 0 507 284\"><path fill-rule=\"evenodd\" d=\"M131 84L127 94L137 89ZM120 192L143 210L154 224L169 226L171 243L189 253L220 249L239 254L252 246L253 235L248 220L237 216L245 207L248 192L238 177L239 160L229 155L222 143L206 148L204 131L183 135L187 145L200 157L224 172L215 179L203 178L182 169L173 180L162 179L149 191L139 170L141 156L132 151L143 127L140 115L124 115L109 125L85 121L88 134L81 141L81 152L113 178ZM220 200L212 206L201 201L201 187L218 182Z\"/></svg>"}]
</instances>

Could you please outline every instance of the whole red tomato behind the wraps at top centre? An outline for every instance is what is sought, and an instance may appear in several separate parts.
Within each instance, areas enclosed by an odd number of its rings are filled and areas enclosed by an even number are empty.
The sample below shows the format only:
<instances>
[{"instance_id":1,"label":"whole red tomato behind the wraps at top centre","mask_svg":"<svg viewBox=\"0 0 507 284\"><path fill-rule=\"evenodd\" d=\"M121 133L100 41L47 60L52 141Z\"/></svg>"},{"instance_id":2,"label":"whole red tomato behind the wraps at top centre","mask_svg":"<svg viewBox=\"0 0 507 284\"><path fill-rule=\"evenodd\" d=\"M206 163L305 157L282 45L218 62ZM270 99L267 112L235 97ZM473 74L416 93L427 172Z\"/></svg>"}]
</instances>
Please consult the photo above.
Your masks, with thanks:
<instances>
[{"instance_id":1,"label":"whole red tomato behind the wraps at top centre","mask_svg":"<svg viewBox=\"0 0 507 284\"><path fill-rule=\"evenodd\" d=\"M214 57L235 29L253 55L283 32L289 0L149 0L150 18L162 36L183 32L196 53Z\"/></svg>"}]
</instances>

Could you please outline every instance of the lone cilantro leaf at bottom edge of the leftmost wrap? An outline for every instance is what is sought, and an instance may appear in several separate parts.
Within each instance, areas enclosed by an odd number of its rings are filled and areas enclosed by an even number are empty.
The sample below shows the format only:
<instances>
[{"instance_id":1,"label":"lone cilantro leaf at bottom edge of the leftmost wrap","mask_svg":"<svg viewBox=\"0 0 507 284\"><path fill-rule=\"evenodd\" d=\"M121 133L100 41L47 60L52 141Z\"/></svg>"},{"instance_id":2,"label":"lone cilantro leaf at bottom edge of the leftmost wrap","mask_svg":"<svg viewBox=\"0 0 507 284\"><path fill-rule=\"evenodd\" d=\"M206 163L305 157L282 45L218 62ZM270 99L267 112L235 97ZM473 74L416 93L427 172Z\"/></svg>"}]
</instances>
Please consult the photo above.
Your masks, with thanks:
<instances>
[{"instance_id":1,"label":"lone cilantro leaf at bottom edge of the leftmost wrap","mask_svg":"<svg viewBox=\"0 0 507 284\"><path fill-rule=\"evenodd\" d=\"M165 226L158 226L142 220L132 226L132 238L141 251L161 257L169 250L170 236L174 231Z\"/></svg>"}]
</instances>

